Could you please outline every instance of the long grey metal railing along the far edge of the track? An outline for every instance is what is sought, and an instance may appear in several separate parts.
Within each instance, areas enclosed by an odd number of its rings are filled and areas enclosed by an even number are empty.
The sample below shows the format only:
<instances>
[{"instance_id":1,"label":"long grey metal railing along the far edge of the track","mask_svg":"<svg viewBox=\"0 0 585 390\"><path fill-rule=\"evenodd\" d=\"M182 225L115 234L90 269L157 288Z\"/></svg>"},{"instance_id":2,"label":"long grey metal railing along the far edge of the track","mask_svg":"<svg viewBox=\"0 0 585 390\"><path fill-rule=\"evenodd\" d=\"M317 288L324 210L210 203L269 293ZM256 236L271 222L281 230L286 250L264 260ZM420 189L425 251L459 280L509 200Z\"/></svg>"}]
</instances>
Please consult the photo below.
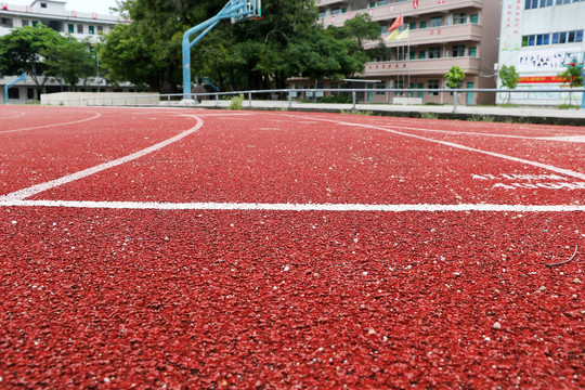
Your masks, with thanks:
<instances>
[{"instance_id":1,"label":"long grey metal railing along the far edge of the track","mask_svg":"<svg viewBox=\"0 0 585 390\"><path fill-rule=\"evenodd\" d=\"M197 106L199 101L203 99L214 100L216 106L220 107L220 102L229 100L233 96L243 95L247 100L247 107L253 107L252 96L256 96L257 101L281 101L286 102L286 105L283 105L283 108L292 108L294 104L299 103L296 101L301 94L303 95L303 101L312 100L314 103L317 102L317 98L325 96L325 93L330 94L347 94L351 96L351 108L356 109L359 95L366 95L368 93L389 93L390 98L408 98L408 95L414 95L417 93L428 93L428 94L440 94L448 93L453 94L453 113L457 113L458 103L457 98L466 93L494 93L499 94L500 99L505 101L510 95L521 93L523 95L537 95L538 93L551 94L558 93L559 96L566 96L567 99L574 99L578 102L578 94L581 94L581 108L585 108L585 88L557 88L557 89L433 89L433 88L402 88L402 89L278 89L278 90L249 90L249 91L232 91L232 92L205 92L205 93L191 93L190 96L192 100L184 100L184 95L181 93L174 94L153 94L153 95L125 95L120 98L107 96L107 98L90 98L82 99L82 106L106 106L106 105L128 105L128 106L140 106L140 105L188 105ZM412 102L416 102L416 98L411 98ZM390 101L392 101L390 99ZM368 102L361 102L362 104L367 104ZM406 101L408 103L408 101ZM385 103L386 105L391 105L392 103ZM421 104L421 103L413 103Z\"/></svg>"}]
</instances>

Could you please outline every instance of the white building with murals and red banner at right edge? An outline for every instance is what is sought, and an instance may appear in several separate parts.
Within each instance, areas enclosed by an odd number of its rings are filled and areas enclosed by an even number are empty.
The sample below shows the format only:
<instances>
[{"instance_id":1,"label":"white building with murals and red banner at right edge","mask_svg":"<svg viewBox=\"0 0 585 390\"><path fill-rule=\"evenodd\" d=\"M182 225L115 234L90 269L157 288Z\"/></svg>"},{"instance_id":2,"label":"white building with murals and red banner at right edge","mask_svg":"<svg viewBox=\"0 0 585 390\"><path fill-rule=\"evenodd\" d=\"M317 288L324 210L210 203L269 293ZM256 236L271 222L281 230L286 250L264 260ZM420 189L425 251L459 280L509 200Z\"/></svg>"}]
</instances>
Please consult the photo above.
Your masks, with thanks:
<instances>
[{"instance_id":1,"label":"white building with murals and red banner at right edge","mask_svg":"<svg viewBox=\"0 0 585 390\"><path fill-rule=\"evenodd\" d=\"M569 93L529 92L559 89L567 65L585 55L585 0L504 0L499 66L515 66L518 91L500 93L498 103L558 105L571 102ZM573 96L581 103L581 95Z\"/></svg>"}]
</instances>

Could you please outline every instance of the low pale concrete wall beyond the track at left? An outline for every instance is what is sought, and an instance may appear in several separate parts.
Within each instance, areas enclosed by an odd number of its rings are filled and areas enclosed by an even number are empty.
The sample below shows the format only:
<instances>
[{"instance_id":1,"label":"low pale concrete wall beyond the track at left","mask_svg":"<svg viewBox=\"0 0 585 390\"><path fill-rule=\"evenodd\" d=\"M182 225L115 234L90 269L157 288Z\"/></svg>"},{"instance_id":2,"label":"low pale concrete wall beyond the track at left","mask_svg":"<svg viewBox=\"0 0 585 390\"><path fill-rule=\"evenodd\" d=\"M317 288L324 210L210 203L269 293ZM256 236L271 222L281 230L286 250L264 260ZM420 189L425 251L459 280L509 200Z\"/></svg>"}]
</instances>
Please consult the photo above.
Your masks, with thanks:
<instances>
[{"instance_id":1,"label":"low pale concrete wall beyond the track at left","mask_svg":"<svg viewBox=\"0 0 585 390\"><path fill-rule=\"evenodd\" d=\"M125 106L158 105L158 92L60 92L41 94L41 105L63 106Z\"/></svg>"}]
</instances>

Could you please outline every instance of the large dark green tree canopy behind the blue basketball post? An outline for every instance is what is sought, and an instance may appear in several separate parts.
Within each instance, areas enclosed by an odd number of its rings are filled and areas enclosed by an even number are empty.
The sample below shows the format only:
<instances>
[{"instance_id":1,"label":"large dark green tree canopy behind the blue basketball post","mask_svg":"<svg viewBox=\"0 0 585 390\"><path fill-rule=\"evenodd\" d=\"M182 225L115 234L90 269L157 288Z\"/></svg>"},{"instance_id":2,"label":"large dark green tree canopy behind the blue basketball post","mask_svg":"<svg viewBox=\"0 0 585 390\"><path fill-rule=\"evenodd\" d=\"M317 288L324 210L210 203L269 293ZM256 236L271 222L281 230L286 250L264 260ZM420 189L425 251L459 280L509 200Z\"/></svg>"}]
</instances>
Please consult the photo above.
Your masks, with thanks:
<instances>
[{"instance_id":1,"label":"large dark green tree canopy behind the blue basketball post","mask_svg":"<svg viewBox=\"0 0 585 390\"><path fill-rule=\"evenodd\" d=\"M125 0L132 23L103 38L102 64L110 81L177 92L182 81L185 30L214 16L226 0ZM263 18L218 24L192 49L194 76L208 76L220 90L284 88L288 78L343 78L363 72L363 43L379 26L358 15L343 27L317 23L314 0L264 0Z\"/></svg>"}]
</instances>

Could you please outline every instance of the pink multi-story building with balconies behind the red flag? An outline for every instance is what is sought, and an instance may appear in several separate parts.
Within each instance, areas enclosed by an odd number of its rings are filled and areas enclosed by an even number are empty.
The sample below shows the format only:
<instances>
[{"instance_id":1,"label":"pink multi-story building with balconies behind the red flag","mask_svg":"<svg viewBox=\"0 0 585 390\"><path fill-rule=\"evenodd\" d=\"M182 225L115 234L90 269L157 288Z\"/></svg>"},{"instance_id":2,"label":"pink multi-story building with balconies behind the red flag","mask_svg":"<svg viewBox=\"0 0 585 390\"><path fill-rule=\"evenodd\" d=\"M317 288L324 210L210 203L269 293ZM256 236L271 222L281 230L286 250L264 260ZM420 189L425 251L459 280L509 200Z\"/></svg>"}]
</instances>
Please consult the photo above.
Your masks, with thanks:
<instances>
[{"instance_id":1,"label":"pink multi-story building with balconies behind the red flag","mask_svg":"<svg viewBox=\"0 0 585 390\"><path fill-rule=\"evenodd\" d=\"M380 40L368 42L366 49L384 43L390 50L373 56L360 75L365 88L373 90L363 95L366 102L391 102L395 94L376 92L385 88L435 89L437 92L408 95L424 103L453 102L451 93L440 92L445 88L444 75L453 65L465 72L463 88L496 86L499 0L321 0L317 6L325 27L342 26L361 13L380 24ZM403 16L400 30L407 28L407 37L386 41L389 28L400 15ZM303 86L300 80L295 82L296 87ZM307 81L307 86L314 87L314 81ZM494 94L489 93L467 93L459 98L459 102L467 104L489 104L494 100Z\"/></svg>"}]
</instances>

